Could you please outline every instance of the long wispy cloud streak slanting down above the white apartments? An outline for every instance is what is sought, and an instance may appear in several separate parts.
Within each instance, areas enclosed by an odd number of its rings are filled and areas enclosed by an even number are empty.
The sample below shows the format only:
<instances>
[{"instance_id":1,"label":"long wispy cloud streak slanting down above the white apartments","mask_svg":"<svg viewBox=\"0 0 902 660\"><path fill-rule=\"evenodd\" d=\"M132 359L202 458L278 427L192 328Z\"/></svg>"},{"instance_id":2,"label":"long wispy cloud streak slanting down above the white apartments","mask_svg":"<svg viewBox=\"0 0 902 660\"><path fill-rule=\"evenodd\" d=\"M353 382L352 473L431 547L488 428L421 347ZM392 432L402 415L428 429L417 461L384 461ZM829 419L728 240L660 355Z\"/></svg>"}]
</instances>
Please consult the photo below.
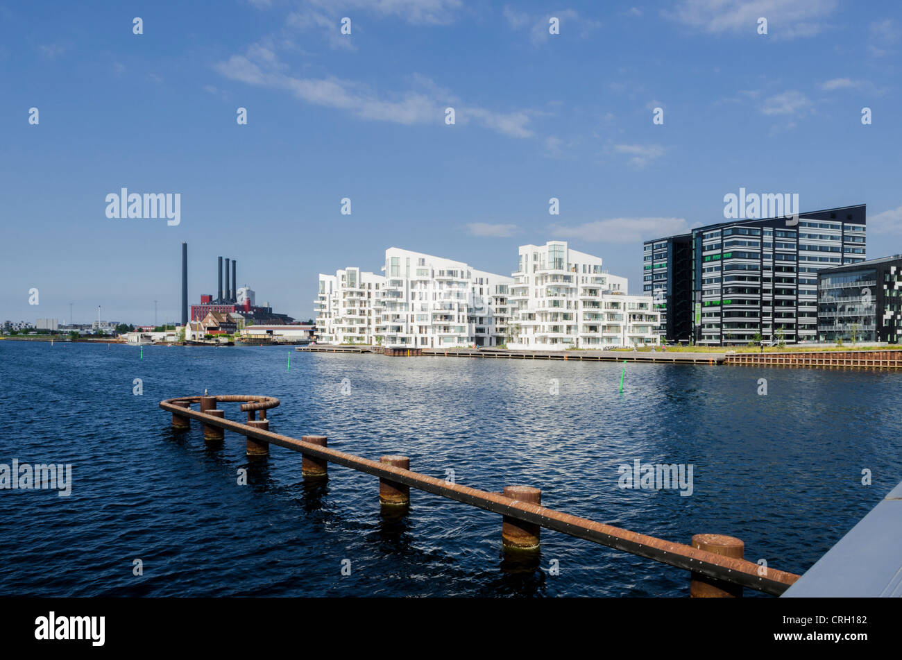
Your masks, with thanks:
<instances>
[{"instance_id":1,"label":"long wispy cloud streak slanting down above the white apartments","mask_svg":"<svg viewBox=\"0 0 902 660\"><path fill-rule=\"evenodd\" d=\"M414 77L419 89L380 96L368 85L354 80L292 76L272 50L259 44L253 45L244 55L233 55L216 63L214 69L231 80L284 89L304 103L344 110L362 119L395 124L440 124L445 119L446 105L451 104L455 108L456 124L473 121L515 138L534 135L529 128L531 112L496 112L461 103L456 96L422 76Z\"/></svg>"}]
</instances>

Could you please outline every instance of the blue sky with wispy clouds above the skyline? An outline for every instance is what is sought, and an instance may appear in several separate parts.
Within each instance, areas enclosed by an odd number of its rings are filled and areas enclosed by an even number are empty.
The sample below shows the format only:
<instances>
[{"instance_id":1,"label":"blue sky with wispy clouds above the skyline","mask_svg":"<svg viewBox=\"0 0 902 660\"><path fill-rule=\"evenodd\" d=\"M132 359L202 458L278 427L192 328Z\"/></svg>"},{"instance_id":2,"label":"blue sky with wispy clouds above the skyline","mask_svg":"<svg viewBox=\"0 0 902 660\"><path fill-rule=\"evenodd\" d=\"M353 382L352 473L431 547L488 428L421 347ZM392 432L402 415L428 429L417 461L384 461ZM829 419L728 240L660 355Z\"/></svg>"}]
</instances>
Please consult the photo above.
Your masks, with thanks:
<instances>
[{"instance_id":1,"label":"blue sky with wispy clouds above the skyline","mask_svg":"<svg viewBox=\"0 0 902 660\"><path fill-rule=\"evenodd\" d=\"M902 252L896 2L108 5L0 3L0 320L176 317L182 241L190 301L225 255L302 318L391 245L510 274L566 239L638 293L641 241L741 187L866 203L868 257ZM123 187L180 224L108 219Z\"/></svg>"}]
</instances>

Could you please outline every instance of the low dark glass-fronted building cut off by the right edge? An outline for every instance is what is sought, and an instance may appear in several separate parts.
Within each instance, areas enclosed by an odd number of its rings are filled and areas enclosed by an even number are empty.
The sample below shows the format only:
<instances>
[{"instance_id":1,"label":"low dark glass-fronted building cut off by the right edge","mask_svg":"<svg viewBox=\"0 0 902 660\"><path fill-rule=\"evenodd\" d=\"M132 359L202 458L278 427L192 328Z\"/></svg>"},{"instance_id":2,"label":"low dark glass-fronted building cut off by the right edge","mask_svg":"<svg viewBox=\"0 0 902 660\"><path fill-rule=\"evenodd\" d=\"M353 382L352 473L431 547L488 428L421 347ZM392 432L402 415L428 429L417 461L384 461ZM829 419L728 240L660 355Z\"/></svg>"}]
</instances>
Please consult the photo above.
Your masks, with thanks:
<instances>
[{"instance_id":1,"label":"low dark glass-fronted building cut off by the right edge","mask_svg":"<svg viewBox=\"0 0 902 660\"><path fill-rule=\"evenodd\" d=\"M822 342L902 343L902 254L821 270L817 334Z\"/></svg>"}]
</instances>

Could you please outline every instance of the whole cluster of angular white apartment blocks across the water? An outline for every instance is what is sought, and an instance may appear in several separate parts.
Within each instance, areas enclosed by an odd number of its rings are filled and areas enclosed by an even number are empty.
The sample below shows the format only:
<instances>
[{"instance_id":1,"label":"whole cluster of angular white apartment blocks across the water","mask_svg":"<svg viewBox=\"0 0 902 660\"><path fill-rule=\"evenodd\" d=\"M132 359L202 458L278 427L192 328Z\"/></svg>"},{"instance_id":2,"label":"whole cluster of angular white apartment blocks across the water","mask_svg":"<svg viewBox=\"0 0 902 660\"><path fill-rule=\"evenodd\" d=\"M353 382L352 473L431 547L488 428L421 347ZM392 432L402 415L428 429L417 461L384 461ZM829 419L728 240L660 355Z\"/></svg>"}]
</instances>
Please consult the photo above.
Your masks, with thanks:
<instances>
[{"instance_id":1,"label":"whole cluster of angular white apartment blocks across the water","mask_svg":"<svg viewBox=\"0 0 902 660\"><path fill-rule=\"evenodd\" d=\"M384 273L319 275L318 342L565 349L657 341L650 296L628 296L626 278L562 241L521 245L512 277L394 247Z\"/></svg>"}]
</instances>

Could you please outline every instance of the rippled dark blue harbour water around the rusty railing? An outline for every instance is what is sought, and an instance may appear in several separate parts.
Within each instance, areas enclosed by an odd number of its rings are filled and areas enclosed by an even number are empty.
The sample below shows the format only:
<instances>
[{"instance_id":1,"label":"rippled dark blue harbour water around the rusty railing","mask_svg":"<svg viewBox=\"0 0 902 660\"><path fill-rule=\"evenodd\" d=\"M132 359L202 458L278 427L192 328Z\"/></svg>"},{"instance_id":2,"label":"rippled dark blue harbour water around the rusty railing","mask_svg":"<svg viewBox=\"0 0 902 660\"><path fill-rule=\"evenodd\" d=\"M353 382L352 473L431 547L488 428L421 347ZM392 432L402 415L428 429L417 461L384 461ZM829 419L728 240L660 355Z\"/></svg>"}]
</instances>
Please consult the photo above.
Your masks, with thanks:
<instances>
[{"instance_id":1,"label":"rippled dark blue harbour water around the rusty railing","mask_svg":"<svg viewBox=\"0 0 902 660\"><path fill-rule=\"evenodd\" d=\"M627 364L621 395L620 363L141 354L0 342L0 463L72 463L74 481L69 498L0 490L0 594L687 594L685 572L548 531L540 568L511 570L495 514L413 490L406 518L383 518L371 476L330 465L327 483L309 486L301 456L280 447L251 463L238 435L207 449L198 423L175 433L158 407L205 388L278 397L279 433L327 435L370 458L406 454L413 470L454 470L483 490L538 486L549 507L668 540L739 536L746 558L796 573L902 480L902 374L886 371ZM618 488L618 465L637 458L693 464L692 496ZM553 559L559 575L548 574Z\"/></svg>"}]
</instances>

